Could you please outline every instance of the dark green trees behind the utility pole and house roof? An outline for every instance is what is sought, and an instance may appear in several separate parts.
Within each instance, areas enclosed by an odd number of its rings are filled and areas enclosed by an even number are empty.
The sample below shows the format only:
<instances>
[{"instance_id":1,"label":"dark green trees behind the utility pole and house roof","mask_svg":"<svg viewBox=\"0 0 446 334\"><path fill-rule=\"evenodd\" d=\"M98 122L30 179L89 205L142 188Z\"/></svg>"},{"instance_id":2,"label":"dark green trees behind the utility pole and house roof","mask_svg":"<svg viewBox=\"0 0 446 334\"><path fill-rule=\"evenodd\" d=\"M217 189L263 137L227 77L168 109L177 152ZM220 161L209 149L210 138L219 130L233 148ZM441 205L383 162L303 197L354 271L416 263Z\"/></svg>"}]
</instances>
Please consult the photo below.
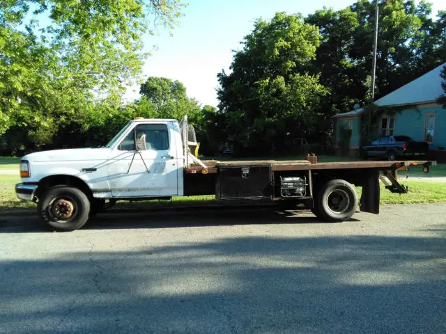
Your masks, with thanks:
<instances>
[{"instance_id":1,"label":"dark green trees behind the utility pole and house roof","mask_svg":"<svg viewBox=\"0 0 446 334\"><path fill-rule=\"evenodd\" d=\"M321 134L332 132L331 117L367 104L370 90L375 1L360 0L346 9L323 8L305 22L319 27L322 40L309 71L320 73L330 90L316 112ZM444 62L446 30L443 11L431 19L431 4L379 1L375 100ZM321 138L322 136L320 136Z\"/></svg>"}]
</instances>

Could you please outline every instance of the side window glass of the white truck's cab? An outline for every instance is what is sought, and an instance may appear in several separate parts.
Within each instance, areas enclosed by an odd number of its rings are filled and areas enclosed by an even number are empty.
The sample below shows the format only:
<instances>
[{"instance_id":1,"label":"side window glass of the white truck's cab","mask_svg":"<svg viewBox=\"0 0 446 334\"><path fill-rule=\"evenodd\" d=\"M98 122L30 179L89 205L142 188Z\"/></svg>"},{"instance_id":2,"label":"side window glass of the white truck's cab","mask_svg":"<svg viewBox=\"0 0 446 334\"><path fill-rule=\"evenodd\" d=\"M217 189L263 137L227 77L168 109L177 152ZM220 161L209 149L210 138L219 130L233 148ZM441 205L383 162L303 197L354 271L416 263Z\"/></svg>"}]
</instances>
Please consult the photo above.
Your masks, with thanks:
<instances>
[{"instance_id":1,"label":"side window glass of the white truck's cab","mask_svg":"<svg viewBox=\"0 0 446 334\"><path fill-rule=\"evenodd\" d=\"M169 131L165 124L140 124L134 128L139 150L169 150ZM134 150L133 131L128 134L119 145L119 150Z\"/></svg>"}]
</instances>

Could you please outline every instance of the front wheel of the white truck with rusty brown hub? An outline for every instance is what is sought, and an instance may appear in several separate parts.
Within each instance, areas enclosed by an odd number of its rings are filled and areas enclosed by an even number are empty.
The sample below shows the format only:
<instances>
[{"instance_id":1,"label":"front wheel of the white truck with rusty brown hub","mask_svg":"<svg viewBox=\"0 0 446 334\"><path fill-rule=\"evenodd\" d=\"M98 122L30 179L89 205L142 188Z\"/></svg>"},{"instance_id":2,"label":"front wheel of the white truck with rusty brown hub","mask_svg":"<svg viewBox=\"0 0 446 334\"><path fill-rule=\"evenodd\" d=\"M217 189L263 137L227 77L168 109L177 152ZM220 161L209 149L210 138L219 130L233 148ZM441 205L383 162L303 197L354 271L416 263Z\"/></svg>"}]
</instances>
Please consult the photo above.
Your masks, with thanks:
<instances>
[{"instance_id":1,"label":"front wheel of the white truck with rusty brown hub","mask_svg":"<svg viewBox=\"0 0 446 334\"><path fill-rule=\"evenodd\" d=\"M40 218L54 230L74 231L89 220L90 201L86 194L70 186L56 186L38 202Z\"/></svg>"}]
</instances>

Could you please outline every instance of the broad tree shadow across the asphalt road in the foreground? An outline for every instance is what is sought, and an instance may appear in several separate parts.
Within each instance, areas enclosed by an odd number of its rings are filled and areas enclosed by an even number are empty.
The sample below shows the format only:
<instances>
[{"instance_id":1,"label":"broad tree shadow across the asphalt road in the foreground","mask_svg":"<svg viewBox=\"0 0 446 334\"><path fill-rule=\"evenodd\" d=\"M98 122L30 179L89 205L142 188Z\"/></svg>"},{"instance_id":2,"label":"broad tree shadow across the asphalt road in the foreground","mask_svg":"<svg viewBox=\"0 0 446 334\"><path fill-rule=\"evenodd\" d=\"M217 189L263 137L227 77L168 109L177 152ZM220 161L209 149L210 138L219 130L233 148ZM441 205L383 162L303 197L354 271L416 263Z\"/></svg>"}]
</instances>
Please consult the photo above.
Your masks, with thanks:
<instances>
[{"instance_id":1,"label":"broad tree shadow across the asphalt road in the foreground","mask_svg":"<svg viewBox=\"0 0 446 334\"><path fill-rule=\"evenodd\" d=\"M445 240L238 237L3 261L0 332L445 333Z\"/></svg>"}]
</instances>

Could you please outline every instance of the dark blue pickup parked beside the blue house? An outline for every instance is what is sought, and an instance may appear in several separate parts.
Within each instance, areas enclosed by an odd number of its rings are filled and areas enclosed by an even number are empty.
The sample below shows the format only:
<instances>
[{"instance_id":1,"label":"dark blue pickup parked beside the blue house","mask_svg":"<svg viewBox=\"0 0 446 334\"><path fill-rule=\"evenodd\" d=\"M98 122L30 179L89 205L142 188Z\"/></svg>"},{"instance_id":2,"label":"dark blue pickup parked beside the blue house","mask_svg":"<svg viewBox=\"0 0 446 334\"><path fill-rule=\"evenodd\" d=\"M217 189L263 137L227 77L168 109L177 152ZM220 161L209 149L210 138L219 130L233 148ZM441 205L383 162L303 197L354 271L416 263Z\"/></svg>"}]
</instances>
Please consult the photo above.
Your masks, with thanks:
<instances>
[{"instance_id":1,"label":"dark blue pickup parked beside the blue house","mask_svg":"<svg viewBox=\"0 0 446 334\"><path fill-rule=\"evenodd\" d=\"M388 159L425 156L429 144L424 141L414 141L409 136L387 136L371 141L360 147L361 159Z\"/></svg>"}]
</instances>

